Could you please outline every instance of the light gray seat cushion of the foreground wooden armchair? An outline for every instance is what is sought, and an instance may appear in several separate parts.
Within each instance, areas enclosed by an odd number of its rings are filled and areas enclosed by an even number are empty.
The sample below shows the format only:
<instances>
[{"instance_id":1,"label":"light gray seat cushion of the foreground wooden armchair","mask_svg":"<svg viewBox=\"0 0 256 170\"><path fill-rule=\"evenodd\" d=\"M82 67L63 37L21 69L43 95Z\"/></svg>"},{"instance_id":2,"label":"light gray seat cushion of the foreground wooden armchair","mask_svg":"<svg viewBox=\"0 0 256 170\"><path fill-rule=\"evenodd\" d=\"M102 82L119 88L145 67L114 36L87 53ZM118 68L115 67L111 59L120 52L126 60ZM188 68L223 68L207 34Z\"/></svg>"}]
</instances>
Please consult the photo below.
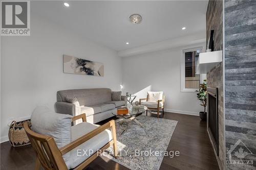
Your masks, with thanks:
<instances>
[{"instance_id":1,"label":"light gray seat cushion of the foreground wooden armchair","mask_svg":"<svg viewBox=\"0 0 256 170\"><path fill-rule=\"evenodd\" d=\"M98 125L93 125L87 122L83 122L81 124L72 126L71 128L71 135L72 141L76 140L77 138L93 131L94 129L98 128ZM70 157L66 161L68 168L75 168L84 160L88 159L91 155L97 152L98 149L102 148L106 143L112 140L112 135L110 130L104 130L103 132L99 133L98 135L94 136L93 138L89 139L88 141L82 143L77 148L70 151ZM84 152L86 154L84 154Z\"/></svg>"}]
</instances>

